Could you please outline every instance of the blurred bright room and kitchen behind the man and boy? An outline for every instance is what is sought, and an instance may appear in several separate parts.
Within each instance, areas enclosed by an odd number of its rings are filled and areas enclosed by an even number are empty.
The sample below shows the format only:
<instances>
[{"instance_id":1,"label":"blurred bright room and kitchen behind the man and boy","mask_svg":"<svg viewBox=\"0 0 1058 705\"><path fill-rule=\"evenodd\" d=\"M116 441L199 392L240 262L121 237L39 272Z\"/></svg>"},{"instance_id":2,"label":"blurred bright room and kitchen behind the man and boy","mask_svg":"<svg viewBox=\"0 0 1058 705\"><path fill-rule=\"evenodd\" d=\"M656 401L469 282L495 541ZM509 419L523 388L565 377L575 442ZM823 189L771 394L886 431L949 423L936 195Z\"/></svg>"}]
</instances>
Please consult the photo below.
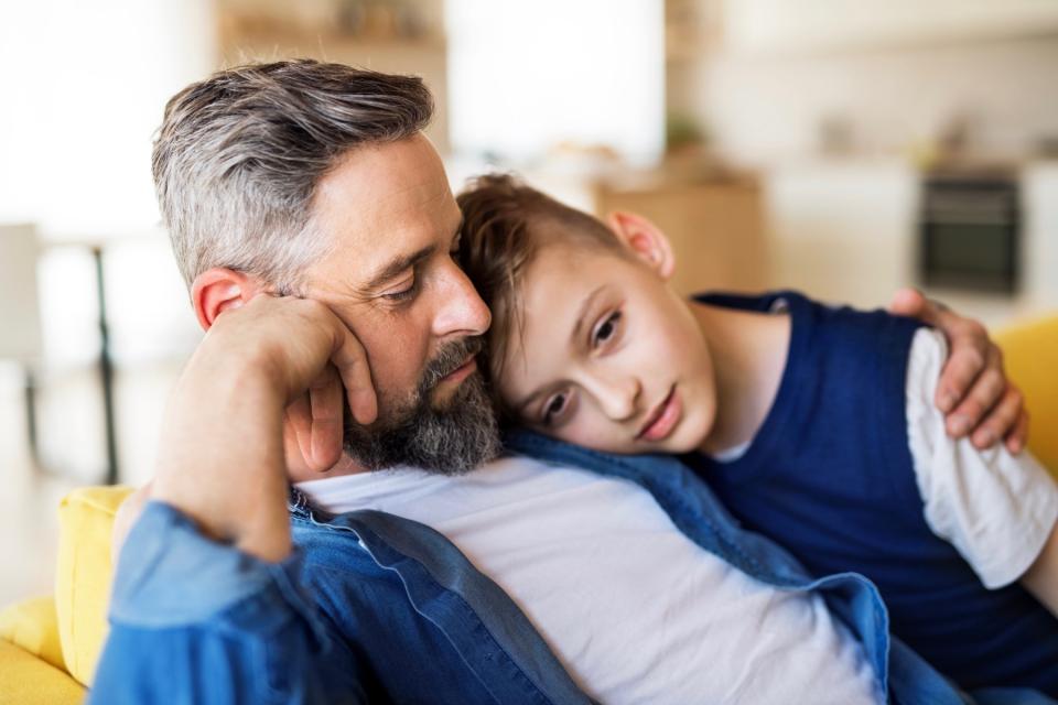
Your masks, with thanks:
<instances>
[{"instance_id":1,"label":"blurred bright room and kitchen behind the man and boy","mask_svg":"<svg viewBox=\"0 0 1058 705\"><path fill-rule=\"evenodd\" d=\"M685 292L1058 307L1055 0L7 2L0 605L51 590L63 494L150 477L201 335L150 176L165 100L287 56L423 76L453 188L511 169L643 213Z\"/></svg>"}]
</instances>

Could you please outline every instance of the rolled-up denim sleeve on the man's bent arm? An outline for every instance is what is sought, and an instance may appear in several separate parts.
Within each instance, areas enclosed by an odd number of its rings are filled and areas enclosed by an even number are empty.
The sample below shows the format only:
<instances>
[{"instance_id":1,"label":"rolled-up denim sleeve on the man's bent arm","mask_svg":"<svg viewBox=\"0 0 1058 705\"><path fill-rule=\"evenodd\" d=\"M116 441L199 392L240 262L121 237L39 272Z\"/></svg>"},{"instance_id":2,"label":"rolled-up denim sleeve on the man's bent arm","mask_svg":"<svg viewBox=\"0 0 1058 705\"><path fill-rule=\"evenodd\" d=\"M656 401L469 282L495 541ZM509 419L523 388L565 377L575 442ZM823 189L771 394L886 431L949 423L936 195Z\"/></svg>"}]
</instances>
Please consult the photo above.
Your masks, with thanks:
<instances>
[{"instance_id":1,"label":"rolled-up denim sleeve on the man's bent arm","mask_svg":"<svg viewBox=\"0 0 1058 705\"><path fill-rule=\"evenodd\" d=\"M354 664L338 680L326 669L330 640L296 587L300 565L296 551L267 563L148 503L121 552L88 702L366 701Z\"/></svg>"}]
</instances>

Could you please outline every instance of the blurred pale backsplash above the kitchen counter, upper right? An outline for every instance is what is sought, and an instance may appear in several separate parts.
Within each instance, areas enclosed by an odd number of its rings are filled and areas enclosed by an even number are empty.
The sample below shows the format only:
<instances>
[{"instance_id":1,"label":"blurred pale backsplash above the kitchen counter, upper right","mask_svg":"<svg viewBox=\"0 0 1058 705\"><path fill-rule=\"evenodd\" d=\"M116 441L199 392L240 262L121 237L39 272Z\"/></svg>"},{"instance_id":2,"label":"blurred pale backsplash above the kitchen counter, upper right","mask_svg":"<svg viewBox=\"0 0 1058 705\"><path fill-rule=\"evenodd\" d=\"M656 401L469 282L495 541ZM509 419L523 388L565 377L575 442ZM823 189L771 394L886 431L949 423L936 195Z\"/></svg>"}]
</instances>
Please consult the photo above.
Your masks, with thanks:
<instances>
[{"instance_id":1,"label":"blurred pale backsplash above the kitchen counter, upper right","mask_svg":"<svg viewBox=\"0 0 1058 705\"><path fill-rule=\"evenodd\" d=\"M703 62L697 115L748 163L813 151L841 117L862 152L911 152L963 115L976 149L1005 156L1058 135L1058 37Z\"/></svg>"}]
</instances>

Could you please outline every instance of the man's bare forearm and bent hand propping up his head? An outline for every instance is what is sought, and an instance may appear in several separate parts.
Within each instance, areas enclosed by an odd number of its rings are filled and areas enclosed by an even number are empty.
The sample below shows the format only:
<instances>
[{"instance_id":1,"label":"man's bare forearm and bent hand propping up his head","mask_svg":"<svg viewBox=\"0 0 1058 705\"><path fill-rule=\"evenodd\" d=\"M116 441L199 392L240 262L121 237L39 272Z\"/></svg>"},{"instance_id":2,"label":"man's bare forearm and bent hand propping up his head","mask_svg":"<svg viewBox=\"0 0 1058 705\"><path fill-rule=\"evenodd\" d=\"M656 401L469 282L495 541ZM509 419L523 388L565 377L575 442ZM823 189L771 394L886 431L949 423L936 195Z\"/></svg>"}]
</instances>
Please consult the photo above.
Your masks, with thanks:
<instances>
[{"instance_id":1,"label":"man's bare forearm and bent hand propping up his head","mask_svg":"<svg viewBox=\"0 0 1058 705\"><path fill-rule=\"evenodd\" d=\"M356 421L373 422L367 356L323 304L259 295L225 311L176 382L150 498L183 511L206 535L282 560L290 552L284 413L304 432L306 457L333 464L343 388Z\"/></svg>"}]
</instances>

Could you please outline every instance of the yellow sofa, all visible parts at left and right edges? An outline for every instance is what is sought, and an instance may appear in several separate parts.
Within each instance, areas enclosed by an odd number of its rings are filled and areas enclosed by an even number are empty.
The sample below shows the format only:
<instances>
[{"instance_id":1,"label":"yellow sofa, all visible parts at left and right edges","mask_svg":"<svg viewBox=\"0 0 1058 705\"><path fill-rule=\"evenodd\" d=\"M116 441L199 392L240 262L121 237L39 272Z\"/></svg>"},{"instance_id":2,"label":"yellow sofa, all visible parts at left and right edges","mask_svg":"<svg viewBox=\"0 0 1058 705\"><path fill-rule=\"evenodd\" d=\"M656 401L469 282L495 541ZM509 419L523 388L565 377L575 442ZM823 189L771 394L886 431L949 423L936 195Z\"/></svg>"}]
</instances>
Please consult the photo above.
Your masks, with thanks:
<instances>
[{"instance_id":1,"label":"yellow sofa, all visible parts at left and right edges","mask_svg":"<svg viewBox=\"0 0 1058 705\"><path fill-rule=\"evenodd\" d=\"M1058 314L996 336L1033 419L1029 448L1058 470ZM64 705L84 698L106 636L110 531L125 487L89 487L60 505L55 596L0 612L0 702Z\"/></svg>"}]
</instances>

